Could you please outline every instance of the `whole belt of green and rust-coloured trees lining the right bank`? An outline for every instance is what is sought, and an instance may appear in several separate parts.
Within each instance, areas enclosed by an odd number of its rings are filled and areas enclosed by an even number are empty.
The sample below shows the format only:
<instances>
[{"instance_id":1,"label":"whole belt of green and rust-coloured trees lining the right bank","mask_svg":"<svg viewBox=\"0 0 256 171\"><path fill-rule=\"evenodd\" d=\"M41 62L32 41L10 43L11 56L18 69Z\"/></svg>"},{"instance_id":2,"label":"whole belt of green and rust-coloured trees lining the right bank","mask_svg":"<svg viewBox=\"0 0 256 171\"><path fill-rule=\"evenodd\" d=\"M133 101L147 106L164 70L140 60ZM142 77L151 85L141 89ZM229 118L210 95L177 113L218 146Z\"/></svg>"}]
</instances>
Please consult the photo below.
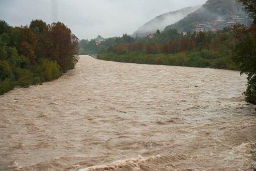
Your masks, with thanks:
<instances>
[{"instance_id":1,"label":"whole belt of green and rust-coloured trees lining the right bank","mask_svg":"<svg viewBox=\"0 0 256 171\"><path fill-rule=\"evenodd\" d=\"M128 41L116 39L99 59L140 64L210 67L237 70L232 61L233 33L227 28L217 33L199 32L181 35L172 29L156 33L154 38ZM120 41L122 40L122 41Z\"/></svg>"}]
</instances>

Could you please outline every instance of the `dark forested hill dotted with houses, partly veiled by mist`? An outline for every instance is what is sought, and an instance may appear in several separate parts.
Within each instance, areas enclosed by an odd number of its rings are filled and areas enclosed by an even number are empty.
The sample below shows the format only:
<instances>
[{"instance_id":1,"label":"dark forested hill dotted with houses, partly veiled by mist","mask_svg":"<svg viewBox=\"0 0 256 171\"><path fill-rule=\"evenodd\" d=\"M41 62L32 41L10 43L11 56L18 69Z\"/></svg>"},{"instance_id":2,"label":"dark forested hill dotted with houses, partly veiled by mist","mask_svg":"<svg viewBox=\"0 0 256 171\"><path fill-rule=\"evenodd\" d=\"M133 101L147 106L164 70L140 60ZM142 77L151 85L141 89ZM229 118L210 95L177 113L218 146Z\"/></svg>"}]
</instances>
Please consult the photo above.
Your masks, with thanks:
<instances>
[{"instance_id":1,"label":"dark forested hill dotted with houses, partly veiled by mist","mask_svg":"<svg viewBox=\"0 0 256 171\"><path fill-rule=\"evenodd\" d=\"M165 31L174 28L179 32L188 32L196 28L203 28L204 30L222 29L229 22L249 24L247 15L242 10L242 5L235 0L209 0L200 9L184 19L167 26Z\"/></svg>"}]
</instances>

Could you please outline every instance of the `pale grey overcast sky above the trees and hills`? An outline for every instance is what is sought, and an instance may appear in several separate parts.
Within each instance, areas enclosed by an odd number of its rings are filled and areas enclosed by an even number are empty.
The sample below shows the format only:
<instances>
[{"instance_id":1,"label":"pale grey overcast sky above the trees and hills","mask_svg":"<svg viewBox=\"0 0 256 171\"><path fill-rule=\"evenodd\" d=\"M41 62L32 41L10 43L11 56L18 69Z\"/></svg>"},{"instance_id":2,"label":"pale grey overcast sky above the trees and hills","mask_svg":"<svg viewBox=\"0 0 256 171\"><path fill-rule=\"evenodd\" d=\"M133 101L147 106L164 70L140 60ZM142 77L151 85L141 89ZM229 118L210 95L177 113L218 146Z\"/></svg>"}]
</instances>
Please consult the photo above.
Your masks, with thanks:
<instances>
[{"instance_id":1,"label":"pale grey overcast sky above the trees and hills","mask_svg":"<svg viewBox=\"0 0 256 171\"><path fill-rule=\"evenodd\" d=\"M0 20L10 26L60 21L80 40L133 34L164 13L203 5L207 0L0 0Z\"/></svg>"}]
</instances>

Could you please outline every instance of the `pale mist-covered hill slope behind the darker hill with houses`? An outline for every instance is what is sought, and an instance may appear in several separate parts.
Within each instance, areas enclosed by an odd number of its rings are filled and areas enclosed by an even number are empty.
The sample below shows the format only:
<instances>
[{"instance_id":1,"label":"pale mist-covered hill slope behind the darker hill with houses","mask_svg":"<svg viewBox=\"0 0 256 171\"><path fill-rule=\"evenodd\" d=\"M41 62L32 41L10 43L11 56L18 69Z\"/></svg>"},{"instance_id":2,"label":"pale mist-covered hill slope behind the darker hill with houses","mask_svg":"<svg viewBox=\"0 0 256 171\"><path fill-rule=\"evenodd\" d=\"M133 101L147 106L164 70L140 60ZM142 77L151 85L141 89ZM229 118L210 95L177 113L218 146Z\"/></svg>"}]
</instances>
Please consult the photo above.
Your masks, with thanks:
<instances>
[{"instance_id":1,"label":"pale mist-covered hill slope behind the darker hill with houses","mask_svg":"<svg viewBox=\"0 0 256 171\"><path fill-rule=\"evenodd\" d=\"M174 24L175 22L178 22L179 20L183 19L190 13L193 13L200 7L201 6L188 7L175 12L170 12L170 13L165 13L163 15L160 15L155 19L149 21L148 23L144 24L137 31L135 31L134 34L131 36L134 38L136 36L142 38L142 37L146 37L149 34L155 33L157 30L163 31L166 26L170 24Z\"/></svg>"}]
</instances>

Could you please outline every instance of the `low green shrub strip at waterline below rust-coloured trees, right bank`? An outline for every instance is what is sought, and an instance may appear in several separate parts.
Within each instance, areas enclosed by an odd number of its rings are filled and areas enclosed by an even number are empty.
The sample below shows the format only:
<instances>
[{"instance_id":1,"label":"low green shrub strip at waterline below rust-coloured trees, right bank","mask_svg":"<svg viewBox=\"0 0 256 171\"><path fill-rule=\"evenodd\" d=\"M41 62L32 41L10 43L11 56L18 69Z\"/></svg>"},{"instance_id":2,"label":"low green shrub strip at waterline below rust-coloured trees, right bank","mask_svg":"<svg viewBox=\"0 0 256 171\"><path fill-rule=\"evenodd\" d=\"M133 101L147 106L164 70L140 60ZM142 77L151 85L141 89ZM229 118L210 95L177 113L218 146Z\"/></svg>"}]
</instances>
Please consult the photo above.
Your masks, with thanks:
<instances>
[{"instance_id":1,"label":"low green shrub strip at waterline below rust-coloured trees, right bank","mask_svg":"<svg viewBox=\"0 0 256 171\"><path fill-rule=\"evenodd\" d=\"M124 63L238 70L230 55L225 55L225 53L220 55L219 52L208 50L177 54L145 54L143 52L116 54L105 52L98 54L97 58Z\"/></svg>"}]
</instances>

